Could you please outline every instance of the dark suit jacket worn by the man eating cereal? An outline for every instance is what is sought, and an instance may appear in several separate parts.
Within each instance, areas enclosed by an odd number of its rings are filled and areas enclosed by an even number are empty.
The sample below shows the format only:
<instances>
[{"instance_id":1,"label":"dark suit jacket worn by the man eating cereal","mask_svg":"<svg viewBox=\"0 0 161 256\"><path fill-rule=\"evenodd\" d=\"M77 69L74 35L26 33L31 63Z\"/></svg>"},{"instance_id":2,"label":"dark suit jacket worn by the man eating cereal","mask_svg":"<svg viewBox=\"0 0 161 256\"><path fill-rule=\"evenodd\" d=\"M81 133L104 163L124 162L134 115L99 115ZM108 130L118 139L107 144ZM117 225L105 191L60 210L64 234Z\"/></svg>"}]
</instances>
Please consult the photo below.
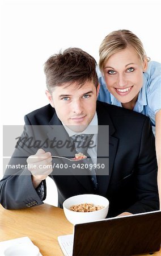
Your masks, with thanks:
<instances>
[{"instance_id":1,"label":"dark suit jacket worn by the man eating cereal","mask_svg":"<svg viewBox=\"0 0 161 256\"><path fill-rule=\"evenodd\" d=\"M96 112L99 124L98 155L102 144L108 143L108 133L101 134L101 127L109 125L109 175L108 168L104 170L105 175L99 175L97 172L98 194L109 200L108 216L116 216L125 211L140 213L159 209L155 142L149 118L99 101ZM29 113L24 119L26 126L23 135L26 137L32 134L34 138L41 138L43 133L46 133L50 139L54 133L52 125L61 125L63 129L55 110L50 105ZM43 130L40 129L41 132L35 133L31 125L47 127L47 132L43 128ZM61 134L61 138L62 136ZM64 136L67 137L65 130ZM44 150L50 150L46 144ZM26 164L26 158L35 154L36 151L37 148L35 151L33 148L16 148L10 164ZM61 150L59 153L62 154ZM26 158L21 158L24 155ZM54 159L54 162L57 163L57 159ZM15 172L15 170L12 171ZM57 185L60 207L70 196L95 193L89 176L75 175L72 168L63 169L61 172L54 168L50 177ZM46 194L45 181L43 183ZM0 191L1 204L6 209L43 204L32 185L31 172L27 168L17 170L16 175L11 173L11 170L7 170L1 180Z\"/></svg>"}]
</instances>

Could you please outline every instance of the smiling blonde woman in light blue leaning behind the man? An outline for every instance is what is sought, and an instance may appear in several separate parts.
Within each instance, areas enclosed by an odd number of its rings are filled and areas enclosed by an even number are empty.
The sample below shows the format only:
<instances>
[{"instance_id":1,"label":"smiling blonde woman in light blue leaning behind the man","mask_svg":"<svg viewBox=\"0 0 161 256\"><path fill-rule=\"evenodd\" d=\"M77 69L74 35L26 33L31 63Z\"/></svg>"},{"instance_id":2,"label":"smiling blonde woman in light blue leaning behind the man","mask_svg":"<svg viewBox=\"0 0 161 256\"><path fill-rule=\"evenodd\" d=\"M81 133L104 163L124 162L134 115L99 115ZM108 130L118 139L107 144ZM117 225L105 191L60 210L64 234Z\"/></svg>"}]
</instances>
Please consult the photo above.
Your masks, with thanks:
<instances>
[{"instance_id":1,"label":"smiling blonde woman in light blue leaning behind the man","mask_svg":"<svg viewBox=\"0 0 161 256\"><path fill-rule=\"evenodd\" d=\"M113 31L100 45L98 100L147 115L155 135L161 201L160 63L150 61L141 40L129 30Z\"/></svg>"}]
</instances>

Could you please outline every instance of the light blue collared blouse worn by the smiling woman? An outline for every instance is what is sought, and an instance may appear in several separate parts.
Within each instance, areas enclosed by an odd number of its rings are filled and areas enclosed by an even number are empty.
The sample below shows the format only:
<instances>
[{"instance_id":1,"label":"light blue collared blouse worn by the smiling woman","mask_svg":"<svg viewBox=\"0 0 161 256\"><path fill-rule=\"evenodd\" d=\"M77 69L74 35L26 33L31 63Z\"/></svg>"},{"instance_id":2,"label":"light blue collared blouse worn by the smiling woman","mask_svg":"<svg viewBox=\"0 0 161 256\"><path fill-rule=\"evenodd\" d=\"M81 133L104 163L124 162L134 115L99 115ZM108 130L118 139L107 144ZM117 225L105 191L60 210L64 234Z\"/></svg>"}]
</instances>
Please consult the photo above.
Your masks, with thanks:
<instances>
[{"instance_id":1,"label":"light blue collared blouse worn by the smiling woman","mask_svg":"<svg viewBox=\"0 0 161 256\"><path fill-rule=\"evenodd\" d=\"M107 102L112 105L120 106L118 101L111 93L109 93L99 69L97 69L100 91L98 100ZM138 100L134 106L134 111L147 115L152 124L155 134L155 114L161 109L161 65L156 61L150 61L147 71L143 73L143 86L138 94Z\"/></svg>"}]
</instances>

